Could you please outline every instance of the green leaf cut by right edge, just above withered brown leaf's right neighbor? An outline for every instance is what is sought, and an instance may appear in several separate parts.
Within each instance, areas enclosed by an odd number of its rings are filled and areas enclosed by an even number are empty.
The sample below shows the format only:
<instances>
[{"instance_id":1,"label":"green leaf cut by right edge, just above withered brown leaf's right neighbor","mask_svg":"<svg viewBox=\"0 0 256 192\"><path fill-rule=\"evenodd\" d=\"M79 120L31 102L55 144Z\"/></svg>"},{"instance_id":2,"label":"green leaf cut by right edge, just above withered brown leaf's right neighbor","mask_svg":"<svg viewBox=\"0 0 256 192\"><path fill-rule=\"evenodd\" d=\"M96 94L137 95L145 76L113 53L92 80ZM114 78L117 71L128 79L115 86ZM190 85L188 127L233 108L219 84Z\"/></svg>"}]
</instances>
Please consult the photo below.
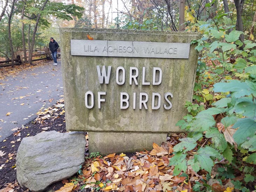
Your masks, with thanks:
<instances>
[{"instance_id":1,"label":"green leaf cut by right edge, just above withered brown leaf's right neighbor","mask_svg":"<svg viewBox=\"0 0 256 192\"><path fill-rule=\"evenodd\" d=\"M254 102L240 102L234 107L234 111L251 119L256 119L256 104Z\"/></svg>"}]
</instances>

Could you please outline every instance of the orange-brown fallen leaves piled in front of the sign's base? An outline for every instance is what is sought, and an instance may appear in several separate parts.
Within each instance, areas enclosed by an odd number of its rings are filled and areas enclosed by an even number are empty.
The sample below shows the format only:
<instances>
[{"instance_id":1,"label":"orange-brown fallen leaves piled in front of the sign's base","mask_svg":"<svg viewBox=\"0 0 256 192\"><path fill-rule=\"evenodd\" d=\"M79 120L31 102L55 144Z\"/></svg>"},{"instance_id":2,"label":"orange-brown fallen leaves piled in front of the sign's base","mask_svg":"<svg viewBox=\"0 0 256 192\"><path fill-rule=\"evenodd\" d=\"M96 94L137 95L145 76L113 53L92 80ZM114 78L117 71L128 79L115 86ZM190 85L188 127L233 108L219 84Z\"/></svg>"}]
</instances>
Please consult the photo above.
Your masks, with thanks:
<instances>
[{"instance_id":1,"label":"orange-brown fallen leaves piled in front of the sign's base","mask_svg":"<svg viewBox=\"0 0 256 192\"><path fill-rule=\"evenodd\" d=\"M191 186L184 176L173 176L168 166L172 145L159 147L153 143L152 151L136 152L129 158L125 154L109 154L104 158L87 159L77 178L71 179L58 192L76 188L92 191L173 191L187 192ZM69 189L69 190L67 190Z\"/></svg>"}]
</instances>

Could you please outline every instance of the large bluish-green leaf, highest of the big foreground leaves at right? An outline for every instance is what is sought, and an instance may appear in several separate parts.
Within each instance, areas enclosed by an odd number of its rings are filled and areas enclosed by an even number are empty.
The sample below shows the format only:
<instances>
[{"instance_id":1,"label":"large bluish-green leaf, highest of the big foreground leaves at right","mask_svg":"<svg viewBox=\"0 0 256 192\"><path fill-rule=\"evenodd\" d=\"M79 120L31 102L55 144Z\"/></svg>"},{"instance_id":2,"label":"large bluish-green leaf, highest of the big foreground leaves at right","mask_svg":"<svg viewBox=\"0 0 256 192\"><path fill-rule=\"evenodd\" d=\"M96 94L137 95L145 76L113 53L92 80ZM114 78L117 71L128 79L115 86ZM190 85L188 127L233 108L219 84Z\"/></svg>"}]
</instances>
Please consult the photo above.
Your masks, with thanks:
<instances>
[{"instance_id":1,"label":"large bluish-green leaf, highest of the big foreground leaves at right","mask_svg":"<svg viewBox=\"0 0 256 192\"><path fill-rule=\"evenodd\" d=\"M244 95L250 95L252 93L250 87L238 80L228 80L228 83L216 83L214 84L213 91L215 92L233 92L235 98L243 97Z\"/></svg>"}]
</instances>

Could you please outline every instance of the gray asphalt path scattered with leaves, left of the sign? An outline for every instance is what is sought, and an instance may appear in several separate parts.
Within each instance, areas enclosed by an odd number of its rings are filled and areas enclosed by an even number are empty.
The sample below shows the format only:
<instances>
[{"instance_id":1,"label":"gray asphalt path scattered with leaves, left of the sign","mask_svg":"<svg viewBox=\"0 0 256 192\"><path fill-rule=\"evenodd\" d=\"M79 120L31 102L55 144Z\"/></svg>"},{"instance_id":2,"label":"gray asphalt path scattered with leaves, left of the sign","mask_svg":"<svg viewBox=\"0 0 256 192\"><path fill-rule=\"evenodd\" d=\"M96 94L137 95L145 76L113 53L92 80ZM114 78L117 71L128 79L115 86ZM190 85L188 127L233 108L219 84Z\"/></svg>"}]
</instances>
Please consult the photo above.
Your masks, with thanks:
<instances>
[{"instance_id":1,"label":"gray asphalt path scattered with leaves, left of the sign","mask_svg":"<svg viewBox=\"0 0 256 192\"><path fill-rule=\"evenodd\" d=\"M49 63L0 80L0 141L16 127L34 120L36 113L63 98L61 62Z\"/></svg>"}]
</instances>

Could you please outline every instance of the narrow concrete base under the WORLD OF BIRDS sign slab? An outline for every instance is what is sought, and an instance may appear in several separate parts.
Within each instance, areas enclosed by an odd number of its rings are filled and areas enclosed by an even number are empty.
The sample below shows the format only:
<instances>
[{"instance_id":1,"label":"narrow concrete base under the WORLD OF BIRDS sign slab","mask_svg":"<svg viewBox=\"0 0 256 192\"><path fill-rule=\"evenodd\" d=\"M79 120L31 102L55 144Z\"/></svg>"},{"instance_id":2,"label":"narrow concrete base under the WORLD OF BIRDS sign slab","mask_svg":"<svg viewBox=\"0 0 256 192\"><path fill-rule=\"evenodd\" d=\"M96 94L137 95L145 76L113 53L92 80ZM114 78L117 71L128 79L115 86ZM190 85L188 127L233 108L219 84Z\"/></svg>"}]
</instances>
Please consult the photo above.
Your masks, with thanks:
<instances>
[{"instance_id":1,"label":"narrow concrete base under the WORLD OF BIRDS sign slab","mask_svg":"<svg viewBox=\"0 0 256 192\"><path fill-rule=\"evenodd\" d=\"M166 133L135 132L90 132L89 152L111 154L113 152L135 152L152 149L152 143L161 145L166 141Z\"/></svg>"}]
</instances>

